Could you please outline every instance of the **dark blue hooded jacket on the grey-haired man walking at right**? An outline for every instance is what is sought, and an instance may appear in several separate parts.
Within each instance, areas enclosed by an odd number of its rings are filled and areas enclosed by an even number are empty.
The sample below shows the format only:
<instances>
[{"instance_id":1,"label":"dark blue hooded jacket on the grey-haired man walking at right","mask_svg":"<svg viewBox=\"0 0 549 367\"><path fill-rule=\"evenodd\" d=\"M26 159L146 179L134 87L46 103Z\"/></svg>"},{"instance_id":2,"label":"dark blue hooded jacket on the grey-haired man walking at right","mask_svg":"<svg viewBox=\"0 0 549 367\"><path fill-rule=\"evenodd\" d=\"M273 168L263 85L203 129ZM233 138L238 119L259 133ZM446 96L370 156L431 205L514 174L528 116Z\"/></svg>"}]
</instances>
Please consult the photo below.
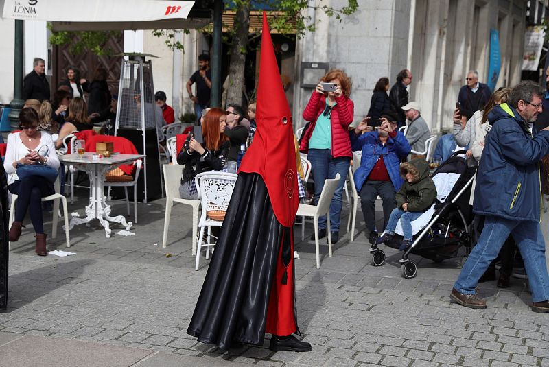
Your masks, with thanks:
<instances>
[{"instance_id":1,"label":"dark blue hooded jacket on the grey-haired man walking at right","mask_svg":"<svg viewBox=\"0 0 549 367\"><path fill-rule=\"evenodd\" d=\"M535 137L517 111L501 104L489 113L492 128L476 176L475 213L511 220L541 220L539 161L549 153L549 131Z\"/></svg>"}]
</instances>

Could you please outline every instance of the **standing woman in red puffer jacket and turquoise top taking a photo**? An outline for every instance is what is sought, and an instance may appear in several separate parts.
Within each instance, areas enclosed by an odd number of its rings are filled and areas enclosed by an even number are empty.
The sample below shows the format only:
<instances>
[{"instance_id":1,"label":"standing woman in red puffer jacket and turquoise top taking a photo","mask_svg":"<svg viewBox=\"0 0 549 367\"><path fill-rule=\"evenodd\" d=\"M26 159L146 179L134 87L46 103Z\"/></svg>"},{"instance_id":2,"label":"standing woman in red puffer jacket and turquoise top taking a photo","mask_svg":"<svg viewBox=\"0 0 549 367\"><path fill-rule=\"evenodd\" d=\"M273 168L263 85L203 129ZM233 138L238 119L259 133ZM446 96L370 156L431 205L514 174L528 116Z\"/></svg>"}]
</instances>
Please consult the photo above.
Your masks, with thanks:
<instances>
[{"instance_id":1,"label":"standing woman in red puffer jacket and turquoise top taking a photo","mask_svg":"<svg viewBox=\"0 0 549 367\"><path fill-rule=\"evenodd\" d=\"M325 83L335 86L334 91L326 92ZM314 204L318 204L324 181L335 178L336 174L341 176L330 203L329 230L333 243L339 239L343 185L353 156L348 128L353 122L355 107L349 95L351 80L343 71L335 69L324 75L303 111L303 119L311 123L303 131L299 147L301 152L309 151L307 159L312 163ZM320 217L318 238L325 237L326 230L326 217Z\"/></svg>"}]
</instances>

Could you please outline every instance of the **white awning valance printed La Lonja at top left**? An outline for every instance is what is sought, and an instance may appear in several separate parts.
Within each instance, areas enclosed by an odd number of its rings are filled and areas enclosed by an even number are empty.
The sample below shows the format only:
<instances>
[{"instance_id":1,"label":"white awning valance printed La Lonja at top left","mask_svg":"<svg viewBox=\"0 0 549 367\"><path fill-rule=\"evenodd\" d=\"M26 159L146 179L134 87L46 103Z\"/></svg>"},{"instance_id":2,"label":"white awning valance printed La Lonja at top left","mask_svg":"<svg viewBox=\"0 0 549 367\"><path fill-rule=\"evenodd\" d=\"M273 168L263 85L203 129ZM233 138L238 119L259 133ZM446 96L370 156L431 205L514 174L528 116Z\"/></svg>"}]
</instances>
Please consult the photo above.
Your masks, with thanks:
<instances>
[{"instance_id":1,"label":"white awning valance printed La Lonja at top left","mask_svg":"<svg viewBox=\"0 0 549 367\"><path fill-rule=\"evenodd\" d=\"M40 21L140 22L187 18L194 1L4 0L2 17ZM76 10L76 11L75 11Z\"/></svg>"}]
</instances>

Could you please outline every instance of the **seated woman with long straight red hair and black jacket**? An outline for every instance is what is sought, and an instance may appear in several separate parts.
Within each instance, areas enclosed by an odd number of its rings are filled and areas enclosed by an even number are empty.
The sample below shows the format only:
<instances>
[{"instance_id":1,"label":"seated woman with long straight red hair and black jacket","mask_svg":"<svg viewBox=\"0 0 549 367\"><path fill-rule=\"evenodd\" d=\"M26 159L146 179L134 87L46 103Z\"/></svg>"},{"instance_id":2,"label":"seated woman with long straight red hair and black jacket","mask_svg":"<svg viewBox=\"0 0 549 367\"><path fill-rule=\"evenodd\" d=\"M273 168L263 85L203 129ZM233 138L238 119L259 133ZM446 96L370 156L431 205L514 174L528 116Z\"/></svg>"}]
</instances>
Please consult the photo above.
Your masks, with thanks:
<instances>
[{"instance_id":1,"label":"seated woman with long straight red hair and black jacket","mask_svg":"<svg viewBox=\"0 0 549 367\"><path fill-rule=\"evenodd\" d=\"M177 163L185 165L179 186L181 198L198 200L196 187L192 185L194 177L201 172L223 169L229 154L229 139L224 135L226 121L224 110L211 108L202 123L204 143L198 143L192 134L187 137L177 155Z\"/></svg>"}]
</instances>

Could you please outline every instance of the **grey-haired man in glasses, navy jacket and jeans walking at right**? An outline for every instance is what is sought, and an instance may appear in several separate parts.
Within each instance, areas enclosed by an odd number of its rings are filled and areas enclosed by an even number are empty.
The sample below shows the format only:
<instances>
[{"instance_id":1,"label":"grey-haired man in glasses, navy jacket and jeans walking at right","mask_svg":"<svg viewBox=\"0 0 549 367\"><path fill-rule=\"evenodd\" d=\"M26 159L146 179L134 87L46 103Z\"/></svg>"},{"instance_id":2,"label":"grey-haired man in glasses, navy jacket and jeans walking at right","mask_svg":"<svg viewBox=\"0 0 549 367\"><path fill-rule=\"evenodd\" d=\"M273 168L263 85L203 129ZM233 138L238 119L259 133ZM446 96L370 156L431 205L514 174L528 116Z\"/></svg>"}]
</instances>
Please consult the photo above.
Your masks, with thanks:
<instances>
[{"instance_id":1,"label":"grey-haired man in glasses, navy jacket and jeans walking at right","mask_svg":"<svg viewBox=\"0 0 549 367\"><path fill-rule=\"evenodd\" d=\"M528 126L543 110L543 95L537 84L522 82L513 88L507 103L495 106L488 115L492 128L484 141L473 204L474 213L484 215L484 228L454 284L452 302L486 309L486 301L476 295L476 285L512 235L528 274L531 308L549 313L549 276L539 226L539 161L549 153L549 127L533 136Z\"/></svg>"}]
</instances>

